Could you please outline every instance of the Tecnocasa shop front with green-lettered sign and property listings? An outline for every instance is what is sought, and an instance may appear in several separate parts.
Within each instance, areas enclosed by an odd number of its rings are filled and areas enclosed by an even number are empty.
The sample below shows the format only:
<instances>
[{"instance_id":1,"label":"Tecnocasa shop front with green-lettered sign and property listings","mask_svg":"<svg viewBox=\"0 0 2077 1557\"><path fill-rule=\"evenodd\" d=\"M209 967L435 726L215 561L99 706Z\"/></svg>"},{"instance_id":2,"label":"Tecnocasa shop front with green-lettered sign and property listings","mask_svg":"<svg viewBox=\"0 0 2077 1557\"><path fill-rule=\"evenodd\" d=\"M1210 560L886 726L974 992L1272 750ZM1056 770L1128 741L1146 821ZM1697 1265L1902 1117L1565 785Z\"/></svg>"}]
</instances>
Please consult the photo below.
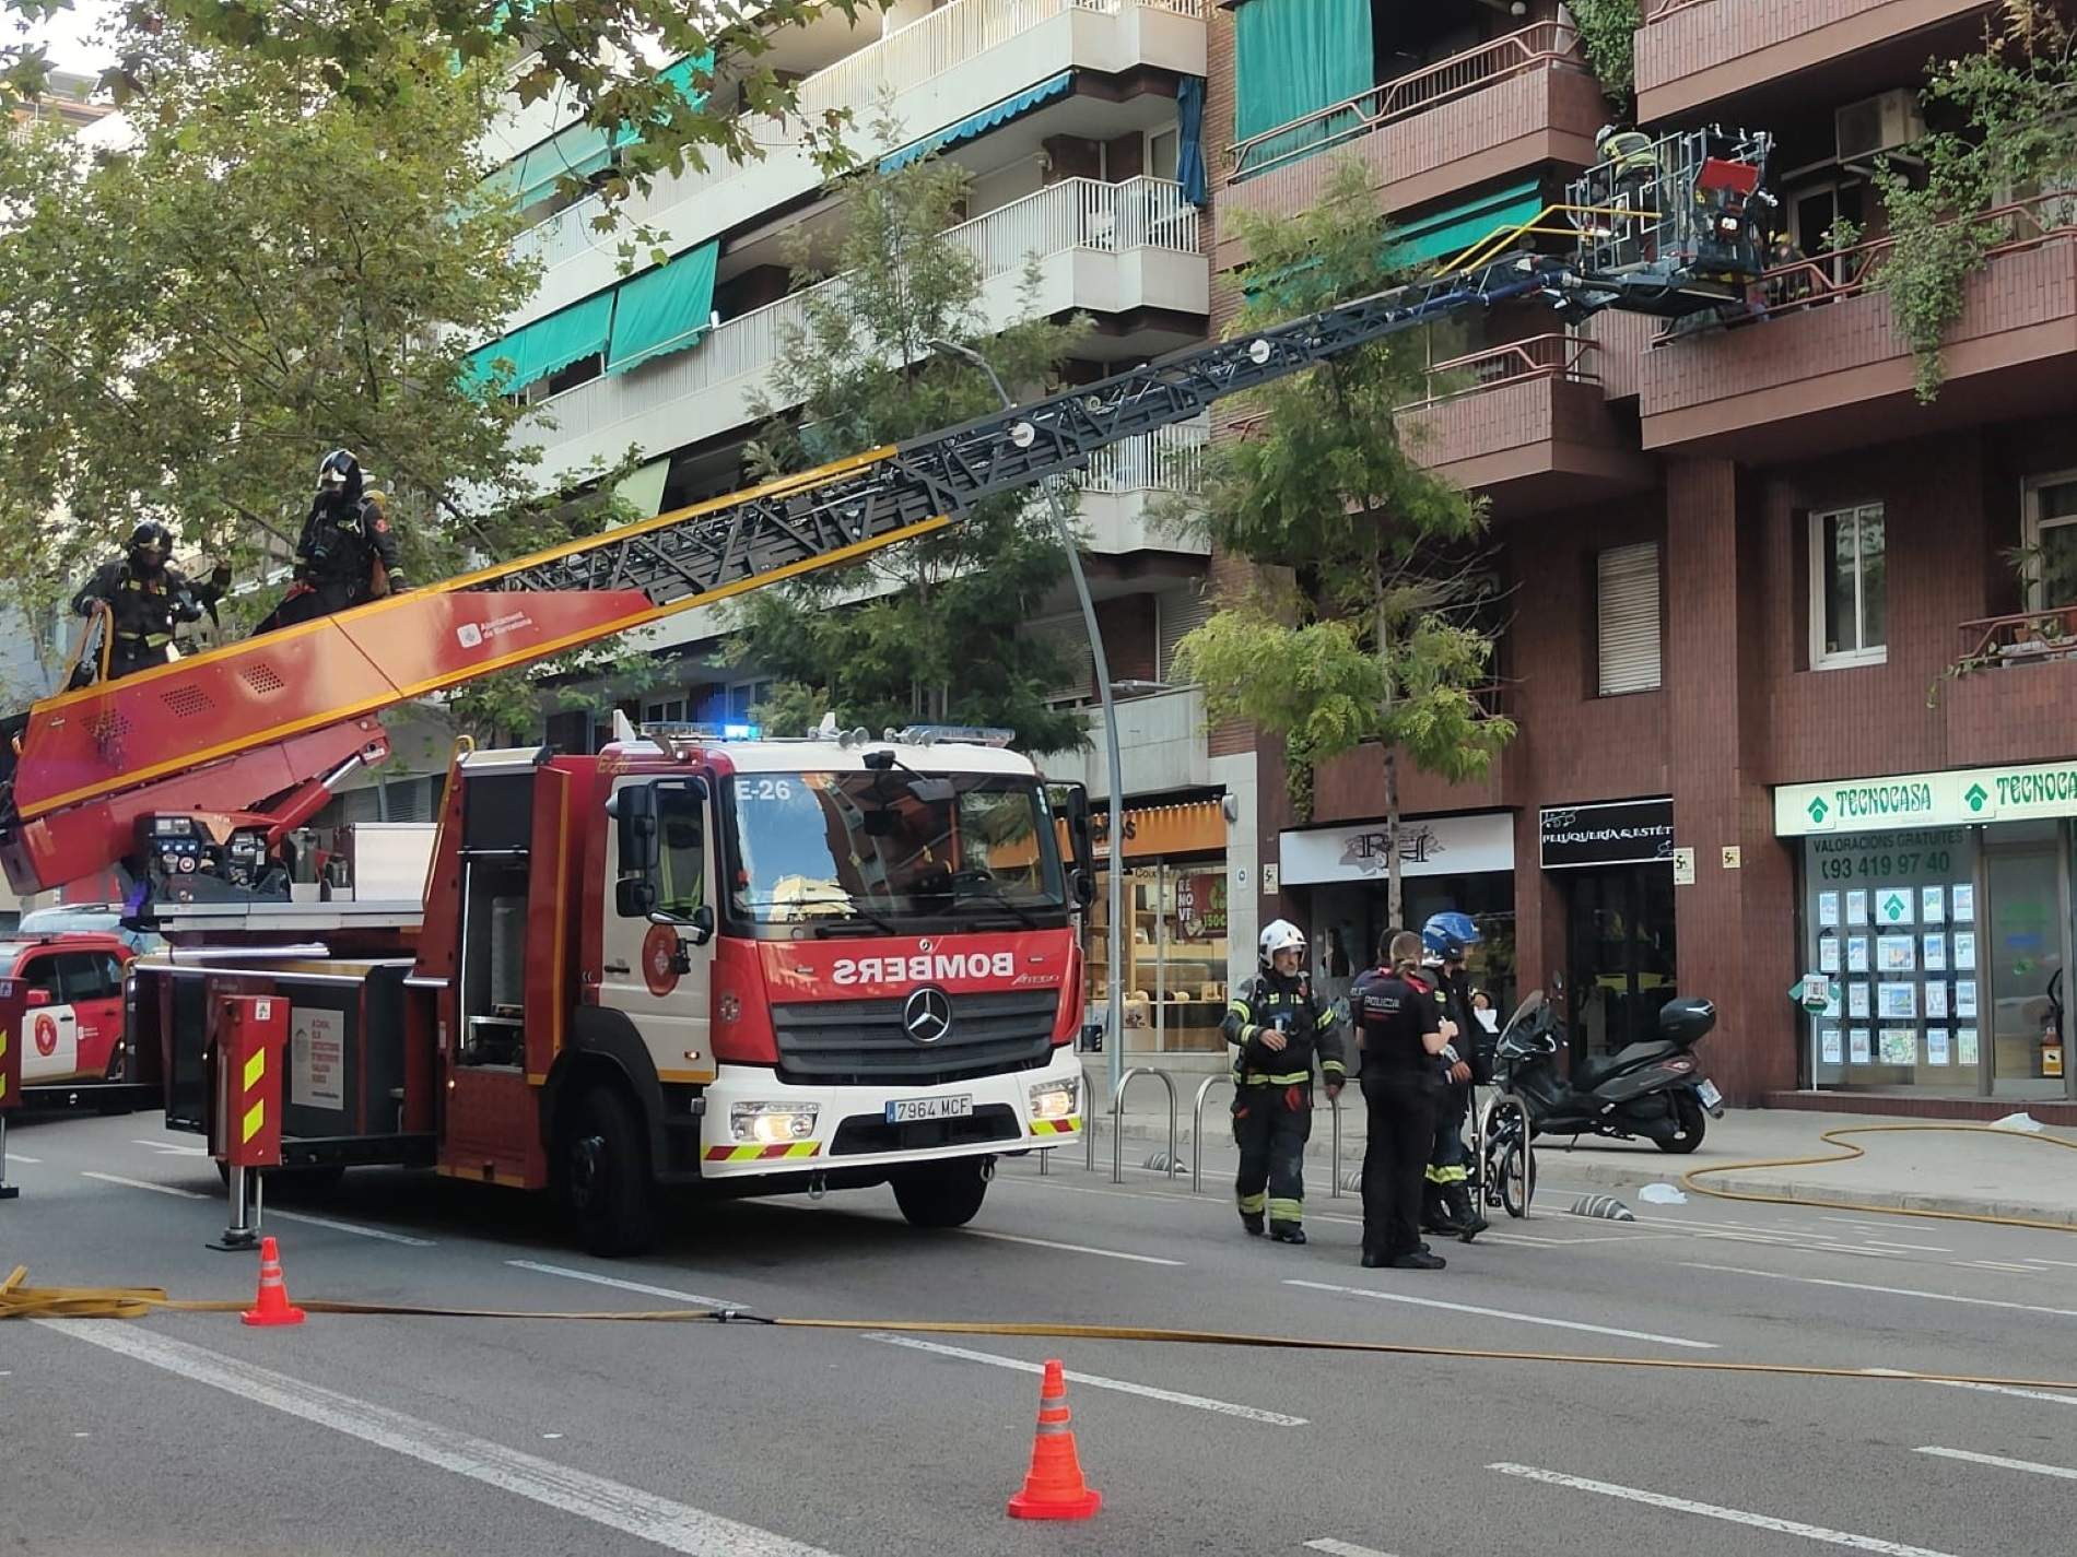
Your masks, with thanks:
<instances>
[{"instance_id":1,"label":"Tecnocasa shop front with green-lettered sign and property listings","mask_svg":"<svg viewBox=\"0 0 2077 1557\"><path fill-rule=\"evenodd\" d=\"M2077 760L1784 785L1807 1086L2060 1100Z\"/></svg>"}]
</instances>

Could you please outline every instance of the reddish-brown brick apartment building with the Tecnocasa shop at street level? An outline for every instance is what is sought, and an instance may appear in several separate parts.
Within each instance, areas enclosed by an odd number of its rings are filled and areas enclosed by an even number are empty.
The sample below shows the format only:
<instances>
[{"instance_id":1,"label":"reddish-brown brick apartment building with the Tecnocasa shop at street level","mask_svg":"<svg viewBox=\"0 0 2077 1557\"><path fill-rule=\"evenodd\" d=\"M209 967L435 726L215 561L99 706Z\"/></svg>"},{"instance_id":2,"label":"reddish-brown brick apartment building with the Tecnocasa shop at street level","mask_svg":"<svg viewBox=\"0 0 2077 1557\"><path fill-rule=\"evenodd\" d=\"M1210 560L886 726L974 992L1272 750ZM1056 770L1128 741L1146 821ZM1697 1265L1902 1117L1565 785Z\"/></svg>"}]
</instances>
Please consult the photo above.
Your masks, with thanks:
<instances>
[{"instance_id":1,"label":"reddish-brown brick apartment building with the Tecnocasa shop at street level","mask_svg":"<svg viewBox=\"0 0 2077 1557\"><path fill-rule=\"evenodd\" d=\"M1558 4L1277 6L1300 12L1211 19L1215 330L1232 212L1296 210L1354 156L1404 239L1458 243L1554 195L1610 112ZM2077 199L1981 218L1998 247L1932 405L1873 284L1873 158L1990 10L1645 0L1639 122L1772 131L1807 260L1763 318L1703 332L1495 313L1406 411L1419 457L1491 498L1520 722L1479 785L1402 781L1408 918L1477 913L1510 994L1562 980L1574 1053L1649 1034L1678 990L1718 1003L1707 1069L1741 1102L2077 1117L2077 602L2011 556L2077 538ZM1261 911L1360 959L1377 756L1315 787L1300 824L1261 754Z\"/></svg>"}]
</instances>

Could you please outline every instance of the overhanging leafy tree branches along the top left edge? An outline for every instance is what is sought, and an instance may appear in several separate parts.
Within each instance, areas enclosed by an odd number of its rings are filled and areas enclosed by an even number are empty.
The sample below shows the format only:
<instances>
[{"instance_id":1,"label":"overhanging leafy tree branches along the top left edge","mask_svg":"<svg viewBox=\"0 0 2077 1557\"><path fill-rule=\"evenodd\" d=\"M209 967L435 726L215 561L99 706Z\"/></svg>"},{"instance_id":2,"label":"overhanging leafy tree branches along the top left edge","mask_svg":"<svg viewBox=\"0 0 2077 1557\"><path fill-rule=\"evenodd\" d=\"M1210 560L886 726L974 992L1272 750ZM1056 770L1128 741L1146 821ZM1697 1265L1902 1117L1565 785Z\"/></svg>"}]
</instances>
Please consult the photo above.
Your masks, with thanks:
<instances>
[{"instance_id":1,"label":"overhanging leafy tree branches along the top left edge","mask_svg":"<svg viewBox=\"0 0 2077 1557\"><path fill-rule=\"evenodd\" d=\"M73 0L4 0L19 25L71 10ZM274 64L318 89L368 108L386 108L409 95L397 75L397 39L438 58L486 62L511 58L513 42L525 48L517 77L521 100L563 93L602 127L644 125L631 149L627 176L609 199L646 187L658 172L706 166L708 156L744 162L758 156L750 114L791 114L795 95L766 62L773 37L804 27L827 12L858 15L858 0L719 0L687 6L677 0L129 0L120 29L120 62L106 81L118 100L137 93L181 91L193 64L168 37L199 42L218 52L245 54ZM644 62L708 56L700 85L727 83L721 93L690 100L658 81ZM0 42L0 110L42 91L42 48ZM746 114L737 114L735 102ZM806 129L818 145L845 122L825 114Z\"/></svg>"}]
</instances>

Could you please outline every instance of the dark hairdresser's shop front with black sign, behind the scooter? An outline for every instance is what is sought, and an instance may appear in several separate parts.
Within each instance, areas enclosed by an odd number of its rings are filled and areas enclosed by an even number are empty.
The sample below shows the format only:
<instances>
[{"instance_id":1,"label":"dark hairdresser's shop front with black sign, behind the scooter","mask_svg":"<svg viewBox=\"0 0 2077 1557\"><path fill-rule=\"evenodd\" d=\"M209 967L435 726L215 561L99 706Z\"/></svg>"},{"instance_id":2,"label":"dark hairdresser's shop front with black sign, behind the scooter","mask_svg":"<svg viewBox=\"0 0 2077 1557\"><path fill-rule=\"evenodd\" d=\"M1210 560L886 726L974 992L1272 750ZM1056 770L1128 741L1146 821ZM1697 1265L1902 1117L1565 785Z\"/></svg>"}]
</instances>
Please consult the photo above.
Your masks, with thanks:
<instances>
[{"instance_id":1,"label":"dark hairdresser's shop front with black sign, behind the scooter","mask_svg":"<svg viewBox=\"0 0 2077 1557\"><path fill-rule=\"evenodd\" d=\"M1674 803L1545 805L1539 864L1564 899L1572 1063L1657 1036L1674 976Z\"/></svg>"}]
</instances>

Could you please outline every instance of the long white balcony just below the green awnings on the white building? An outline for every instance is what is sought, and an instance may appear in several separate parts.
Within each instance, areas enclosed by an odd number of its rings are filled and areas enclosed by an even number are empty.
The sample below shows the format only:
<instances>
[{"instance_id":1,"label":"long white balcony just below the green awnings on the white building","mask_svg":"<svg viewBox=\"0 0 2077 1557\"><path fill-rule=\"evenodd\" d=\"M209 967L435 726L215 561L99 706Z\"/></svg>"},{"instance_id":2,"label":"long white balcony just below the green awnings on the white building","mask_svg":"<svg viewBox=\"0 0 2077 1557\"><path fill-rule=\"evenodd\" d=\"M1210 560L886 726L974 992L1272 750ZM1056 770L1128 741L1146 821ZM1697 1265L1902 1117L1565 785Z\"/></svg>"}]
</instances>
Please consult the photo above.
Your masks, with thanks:
<instances>
[{"instance_id":1,"label":"long white balcony just below the green awnings on the white building","mask_svg":"<svg viewBox=\"0 0 2077 1557\"><path fill-rule=\"evenodd\" d=\"M1086 309L1130 320L1151 309L1203 318L1211 307L1198 212L1169 179L1063 179L951 228L951 239L980 262L980 311L997 328L1020 316L1032 257L1041 313ZM841 286L837 276L816 291ZM660 455L744 428L752 403L777 392L771 370L787 328L804 322L806 299L783 297L714 328L690 351L555 394L517 440L542 444L538 473L552 480L594 457L617 459L629 444ZM1132 328L1103 345L1155 355L1196 334Z\"/></svg>"}]
</instances>

